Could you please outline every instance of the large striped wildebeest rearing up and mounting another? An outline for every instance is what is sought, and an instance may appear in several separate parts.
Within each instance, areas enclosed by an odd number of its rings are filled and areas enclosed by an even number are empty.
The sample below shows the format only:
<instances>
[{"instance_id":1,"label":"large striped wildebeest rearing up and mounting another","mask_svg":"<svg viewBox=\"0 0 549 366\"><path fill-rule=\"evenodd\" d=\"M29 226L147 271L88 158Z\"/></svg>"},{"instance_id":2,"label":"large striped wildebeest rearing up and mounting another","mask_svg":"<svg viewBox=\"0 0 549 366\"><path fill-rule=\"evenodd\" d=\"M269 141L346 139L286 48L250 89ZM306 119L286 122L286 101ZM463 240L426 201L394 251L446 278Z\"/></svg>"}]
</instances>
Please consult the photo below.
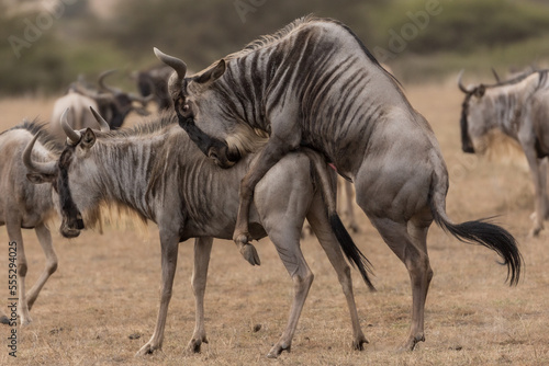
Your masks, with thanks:
<instances>
[{"instance_id":1,"label":"large striped wildebeest rearing up and mounting another","mask_svg":"<svg viewBox=\"0 0 549 366\"><path fill-rule=\"evenodd\" d=\"M506 230L483 220L452 224L445 211L448 172L427 121L344 24L306 16L251 43L198 75L155 49L176 72L169 91L179 123L202 151L228 168L260 129L270 137L240 184L234 240L248 261L254 186L300 146L322 152L355 182L356 199L406 265L413 295L404 350L424 341L424 308L433 271L427 230L435 220L452 236L496 251L518 281L522 258Z\"/></svg>"}]
</instances>

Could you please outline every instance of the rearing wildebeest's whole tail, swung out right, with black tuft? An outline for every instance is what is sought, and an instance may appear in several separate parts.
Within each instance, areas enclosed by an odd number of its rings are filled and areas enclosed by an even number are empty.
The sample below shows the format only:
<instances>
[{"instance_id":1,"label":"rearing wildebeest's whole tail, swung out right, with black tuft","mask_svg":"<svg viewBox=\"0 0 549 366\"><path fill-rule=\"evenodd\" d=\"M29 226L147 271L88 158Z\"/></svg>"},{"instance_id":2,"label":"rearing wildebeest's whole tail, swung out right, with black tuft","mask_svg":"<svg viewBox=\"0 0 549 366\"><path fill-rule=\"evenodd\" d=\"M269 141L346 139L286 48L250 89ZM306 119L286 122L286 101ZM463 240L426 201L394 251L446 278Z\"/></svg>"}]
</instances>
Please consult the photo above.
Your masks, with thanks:
<instances>
[{"instance_id":1,"label":"rearing wildebeest's whole tail, swung out right, with black tuft","mask_svg":"<svg viewBox=\"0 0 549 366\"><path fill-rule=\"evenodd\" d=\"M517 285L520 277L523 256L518 251L515 238L504 228L490 222L490 219L480 219L462 224L452 224L446 215L446 191L437 186L439 180L434 179L432 186L430 209L433 219L442 230L451 233L462 242L483 245L495 251L507 266L507 281L509 285Z\"/></svg>"}]
</instances>

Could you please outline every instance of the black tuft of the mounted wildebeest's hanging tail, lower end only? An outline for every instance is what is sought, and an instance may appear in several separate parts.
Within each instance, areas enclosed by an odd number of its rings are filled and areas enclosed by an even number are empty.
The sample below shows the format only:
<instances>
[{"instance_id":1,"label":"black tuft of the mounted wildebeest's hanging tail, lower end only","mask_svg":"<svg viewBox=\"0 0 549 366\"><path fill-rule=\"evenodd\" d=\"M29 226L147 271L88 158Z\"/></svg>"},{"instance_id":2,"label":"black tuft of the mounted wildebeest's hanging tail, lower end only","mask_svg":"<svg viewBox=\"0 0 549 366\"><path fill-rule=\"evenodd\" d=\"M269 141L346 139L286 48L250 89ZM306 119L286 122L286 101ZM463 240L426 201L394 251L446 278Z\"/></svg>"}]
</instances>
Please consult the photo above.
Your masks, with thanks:
<instances>
[{"instance_id":1,"label":"black tuft of the mounted wildebeest's hanging tail, lower end only","mask_svg":"<svg viewBox=\"0 0 549 366\"><path fill-rule=\"evenodd\" d=\"M339 245L341 245L345 256L347 256L349 263L354 267L358 268L365 283L368 285L370 290L374 291L376 287L373 287L370 278L368 277L368 272L373 273L371 270L372 265L365 254L362 254L362 252L360 252L357 248L337 214L329 215L329 226L332 226L332 230L334 230L337 241L339 242Z\"/></svg>"}]
</instances>

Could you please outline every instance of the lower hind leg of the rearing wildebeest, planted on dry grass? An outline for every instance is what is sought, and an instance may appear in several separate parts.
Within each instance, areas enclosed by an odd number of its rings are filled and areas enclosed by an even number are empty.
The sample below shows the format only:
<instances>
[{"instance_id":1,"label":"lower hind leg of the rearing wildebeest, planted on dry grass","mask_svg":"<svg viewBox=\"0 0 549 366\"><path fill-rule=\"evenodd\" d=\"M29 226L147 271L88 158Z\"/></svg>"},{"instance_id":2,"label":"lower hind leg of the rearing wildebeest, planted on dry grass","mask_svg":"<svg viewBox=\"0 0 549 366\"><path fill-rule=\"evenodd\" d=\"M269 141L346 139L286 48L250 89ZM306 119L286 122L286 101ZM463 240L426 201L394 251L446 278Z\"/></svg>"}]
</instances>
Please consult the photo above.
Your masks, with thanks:
<instances>
[{"instance_id":1,"label":"lower hind leg of the rearing wildebeest, planted on dry grass","mask_svg":"<svg viewBox=\"0 0 549 366\"><path fill-rule=\"evenodd\" d=\"M388 218L371 218L385 243L399 256L408 271L412 283L412 324L410 335L401 351L413 351L417 342L425 341L424 312L433 270L427 255L428 226L395 222Z\"/></svg>"}]
</instances>

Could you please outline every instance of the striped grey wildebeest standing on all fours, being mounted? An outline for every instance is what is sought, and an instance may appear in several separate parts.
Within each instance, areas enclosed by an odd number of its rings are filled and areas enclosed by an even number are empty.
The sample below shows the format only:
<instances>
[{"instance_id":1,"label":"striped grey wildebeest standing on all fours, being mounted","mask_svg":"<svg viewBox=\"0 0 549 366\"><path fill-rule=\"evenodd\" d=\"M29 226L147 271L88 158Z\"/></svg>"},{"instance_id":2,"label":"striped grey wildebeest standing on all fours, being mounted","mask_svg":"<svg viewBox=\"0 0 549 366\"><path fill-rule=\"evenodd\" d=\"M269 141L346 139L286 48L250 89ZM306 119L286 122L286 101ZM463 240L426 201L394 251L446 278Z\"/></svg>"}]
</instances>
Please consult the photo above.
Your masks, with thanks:
<instances>
[{"instance_id":1,"label":"striped grey wildebeest standing on all fours, being mounted","mask_svg":"<svg viewBox=\"0 0 549 366\"><path fill-rule=\"evenodd\" d=\"M101 133L88 128L74 131L66 121L63 126L69 145L58 162L53 160L49 167L38 171L46 174L51 174L52 170L57 172L53 179L58 181L59 206L64 222L68 222L61 227L61 233L69 230L72 235L79 230L74 226L75 214L81 213L86 220L90 217L87 211L93 213L105 203L130 207L143 219L158 225L163 267L160 308L155 332L141 348L139 355L152 353L163 345L178 245L189 238L198 238L192 277L197 325L189 347L200 351L201 343L206 341L203 296L212 238L232 237L238 208L238 181L253 157L243 159L234 169L221 169L190 141L172 112L160 114L156 121L130 130ZM107 124L103 123L103 126ZM27 150L32 151L32 148L31 141ZM310 151L295 152L281 160L256 187L250 232L255 239L269 236L295 289L290 319L282 336L270 350L270 357L277 357L284 350L290 351L313 281L313 273L300 249L305 217L343 286L352 322L352 345L362 348L366 343L358 321L350 270L341 249L373 289L366 272L369 263L337 217L329 184L326 164ZM290 198L280 199L282 196Z\"/></svg>"}]
</instances>

